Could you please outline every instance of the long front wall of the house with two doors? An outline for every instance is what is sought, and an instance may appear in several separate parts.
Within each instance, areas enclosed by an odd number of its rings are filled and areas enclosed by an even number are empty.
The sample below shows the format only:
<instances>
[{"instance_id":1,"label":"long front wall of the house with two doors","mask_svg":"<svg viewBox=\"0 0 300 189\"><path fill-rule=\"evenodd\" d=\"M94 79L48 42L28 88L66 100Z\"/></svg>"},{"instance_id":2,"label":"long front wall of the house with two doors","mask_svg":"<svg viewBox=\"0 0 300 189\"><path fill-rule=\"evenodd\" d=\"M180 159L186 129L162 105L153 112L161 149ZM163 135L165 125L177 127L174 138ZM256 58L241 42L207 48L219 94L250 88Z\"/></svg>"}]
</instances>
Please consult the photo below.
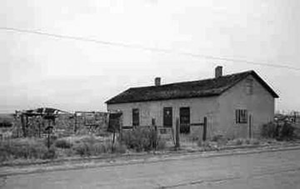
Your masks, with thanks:
<instances>
[{"instance_id":1,"label":"long front wall of the house with two doors","mask_svg":"<svg viewBox=\"0 0 300 189\"><path fill-rule=\"evenodd\" d=\"M132 125L132 109L138 108L140 125L151 125L152 118L156 125L163 126L163 107L173 107L173 129L176 128L176 118L179 118L180 107L190 107L190 122L203 122L207 117L207 136L210 136L212 126L218 124L219 104L218 97L174 99L165 101L149 101L135 103L108 104L107 109L121 110L123 112L123 125ZM199 134L201 136L201 134Z\"/></svg>"}]
</instances>

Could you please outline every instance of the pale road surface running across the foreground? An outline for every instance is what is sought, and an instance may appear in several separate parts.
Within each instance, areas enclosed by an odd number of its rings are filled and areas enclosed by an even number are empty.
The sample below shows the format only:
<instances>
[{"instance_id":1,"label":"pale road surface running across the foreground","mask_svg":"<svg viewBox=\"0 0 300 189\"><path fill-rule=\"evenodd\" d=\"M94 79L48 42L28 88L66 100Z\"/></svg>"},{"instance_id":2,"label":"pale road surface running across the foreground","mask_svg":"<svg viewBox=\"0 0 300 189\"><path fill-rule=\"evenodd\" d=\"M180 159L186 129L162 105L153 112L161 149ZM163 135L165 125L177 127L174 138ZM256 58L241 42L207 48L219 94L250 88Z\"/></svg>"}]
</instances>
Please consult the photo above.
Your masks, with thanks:
<instances>
[{"instance_id":1,"label":"pale road surface running across the foreground","mask_svg":"<svg viewBox=\"0 0 300 189\"><path fill-rule=\"evenodd\" d=\"M0 177L2 188L300 188L300 150Z\"/></svg>"}]
</instances>

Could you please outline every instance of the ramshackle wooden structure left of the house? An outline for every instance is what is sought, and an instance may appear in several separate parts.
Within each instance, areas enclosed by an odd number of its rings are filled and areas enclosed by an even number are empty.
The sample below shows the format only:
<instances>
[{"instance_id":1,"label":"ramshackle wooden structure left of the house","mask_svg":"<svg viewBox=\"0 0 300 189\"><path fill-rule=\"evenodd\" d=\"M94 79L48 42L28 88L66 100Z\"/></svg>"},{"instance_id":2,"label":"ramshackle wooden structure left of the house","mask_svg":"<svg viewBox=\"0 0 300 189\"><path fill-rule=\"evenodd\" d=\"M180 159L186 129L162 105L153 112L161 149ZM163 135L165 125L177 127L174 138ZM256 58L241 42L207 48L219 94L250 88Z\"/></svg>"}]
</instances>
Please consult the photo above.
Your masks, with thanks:
<instances>
[{"instance_id":1,"label":"ramshackle wooden structure left of the house","mask_svg":"<svg viewBox=\"0 0 300 189\"><path fill-rule=\"evenodd\" d=\"M16 111L14 114L17 137L41 137L47 127L64 136L75 134L81 129L94 132L107 129L108 112L76 111L67 112L56 108L37 108Z\"/></svg>"}]
</instances>

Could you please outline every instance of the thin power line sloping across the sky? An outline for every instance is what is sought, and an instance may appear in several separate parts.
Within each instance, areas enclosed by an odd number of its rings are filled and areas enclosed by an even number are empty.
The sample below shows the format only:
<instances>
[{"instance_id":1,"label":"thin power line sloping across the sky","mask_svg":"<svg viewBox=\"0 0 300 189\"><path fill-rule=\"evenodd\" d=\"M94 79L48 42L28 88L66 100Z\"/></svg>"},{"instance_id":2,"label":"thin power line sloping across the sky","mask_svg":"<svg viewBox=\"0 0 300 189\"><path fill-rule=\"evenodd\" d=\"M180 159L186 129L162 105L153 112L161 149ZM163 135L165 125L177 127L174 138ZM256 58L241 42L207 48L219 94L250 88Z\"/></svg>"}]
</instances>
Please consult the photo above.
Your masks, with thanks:
<instances>
[{"instance_id":1,"label":"thin power line sloping across the sky","mask_svg":"<svg viewBox=\"0 0 300 189\"><path fill-rule=\"evenodd\" d=\"M270 63L260 63L260 62L248 61L248 60L243 60L243 59L207 56L207 55L194 54L194 53L189 53L189 52L178 52L178 51L174 51L174 50L170 50L170 49L144 47L144 46L141 46L141 45L126 44L126 43L120 43L120 42L109 42L109 41L102 41L102 40L90 39L90 38L85 38L85 37L75 37L75 36L67 36L67 35L53 34L53 33L47 33L47 32L38 32L38 31L33 31L33 30L24 30L24 29L18 29L18 28L13 28L13 27L0 27L0 29L1 30L6 30L6 31L12 31L12 32L31 33L31 34L45 35L45 36L49 36L49 37L77 40L77 41L94 42L94 43L99 43L99 44L103 44L103 45L111 45L111 46L118 46L118 47L142 49L142 50L152 51L152 52L175 53L175 54L191 56L191 57L197 57L197 58L222 60L222 61L230 61L230 62L244 62L244 63L247 63L247 64L253 64L253 65L260 65L260 66L267 66L267 67L277 67L277 68L286 68L286 69L292 69L292 70L300 71L300 68L298 68L298 67L292 67L292 66L287 66L287 65L273 65L273 64L270 64Z\"/></svg>"}]
</instances>

